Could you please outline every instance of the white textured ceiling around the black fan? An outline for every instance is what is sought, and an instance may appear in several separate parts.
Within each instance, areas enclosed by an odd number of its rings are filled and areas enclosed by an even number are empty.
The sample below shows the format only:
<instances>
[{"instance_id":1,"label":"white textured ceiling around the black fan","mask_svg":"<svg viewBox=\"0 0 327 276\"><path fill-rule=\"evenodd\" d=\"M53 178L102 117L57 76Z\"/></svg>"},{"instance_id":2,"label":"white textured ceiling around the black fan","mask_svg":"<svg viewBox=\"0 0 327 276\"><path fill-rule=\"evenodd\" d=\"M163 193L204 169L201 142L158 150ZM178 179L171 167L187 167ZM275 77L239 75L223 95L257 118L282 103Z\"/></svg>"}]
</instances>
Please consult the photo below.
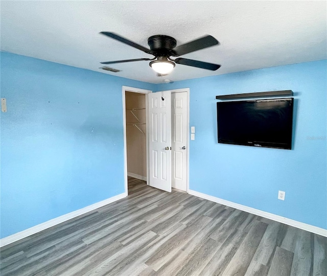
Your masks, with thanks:
<instances>
[{"instance_id":1,"label":"white textured ceiling around the black fan","mask_svg":"<svg viewBox=\"0 0 327 276\"><path fill-rule=\"evenodd\" d=\"M326 1L1 1L1 50L160 83L326 59ZM209 34L221 45L183 55L221 64L218 71L176 64L157 77L148 61L100 61L153 56L99 34L118 33L148 47L151 35L177 45Z\"/></svg>"}]
</instances>

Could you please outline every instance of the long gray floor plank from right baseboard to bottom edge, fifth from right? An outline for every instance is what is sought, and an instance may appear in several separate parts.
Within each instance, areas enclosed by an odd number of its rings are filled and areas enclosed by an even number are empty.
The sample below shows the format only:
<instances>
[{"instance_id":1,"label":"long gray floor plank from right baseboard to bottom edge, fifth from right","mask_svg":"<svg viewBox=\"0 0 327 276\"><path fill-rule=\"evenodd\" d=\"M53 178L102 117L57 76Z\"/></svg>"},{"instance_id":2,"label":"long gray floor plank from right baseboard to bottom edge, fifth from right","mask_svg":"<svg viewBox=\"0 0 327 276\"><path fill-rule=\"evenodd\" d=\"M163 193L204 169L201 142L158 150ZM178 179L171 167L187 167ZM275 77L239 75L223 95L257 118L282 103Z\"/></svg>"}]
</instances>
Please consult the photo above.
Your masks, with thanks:
<instances>
[{"instance_id":1,"label":"long gray floor plank from right baseboard to bottom edge, fifth from right","mask_svg":"<svg viewBox=\"0 0 327 276\"><path fill-rule=\"evenodd\" d=\"M244 238L239 249L224 270L224 275L244 275L252 257L267 229L267 223L259 222L253 226Z\"/></svg>"}]
</instances>

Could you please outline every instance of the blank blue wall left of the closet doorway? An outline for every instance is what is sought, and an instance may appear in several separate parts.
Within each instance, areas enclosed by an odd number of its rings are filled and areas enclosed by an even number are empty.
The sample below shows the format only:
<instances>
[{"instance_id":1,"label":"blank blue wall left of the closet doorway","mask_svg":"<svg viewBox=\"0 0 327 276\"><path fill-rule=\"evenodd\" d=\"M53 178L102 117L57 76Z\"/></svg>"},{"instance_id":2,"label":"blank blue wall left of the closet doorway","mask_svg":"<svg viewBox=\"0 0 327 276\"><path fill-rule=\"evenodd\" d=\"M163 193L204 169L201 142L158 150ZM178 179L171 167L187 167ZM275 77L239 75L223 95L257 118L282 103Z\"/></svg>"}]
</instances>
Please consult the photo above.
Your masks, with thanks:
<instances>
[{"instance_id":1,"label":"blank blue wall left of the closet doorway","mask_svg":"<svg viewBox=\"0 0 327 276\"><path fill-rule=\"evenodd\" d=\"M1 53L1 237L124 193L122 86L154 85Z\"/></svg>"}]
</instances>

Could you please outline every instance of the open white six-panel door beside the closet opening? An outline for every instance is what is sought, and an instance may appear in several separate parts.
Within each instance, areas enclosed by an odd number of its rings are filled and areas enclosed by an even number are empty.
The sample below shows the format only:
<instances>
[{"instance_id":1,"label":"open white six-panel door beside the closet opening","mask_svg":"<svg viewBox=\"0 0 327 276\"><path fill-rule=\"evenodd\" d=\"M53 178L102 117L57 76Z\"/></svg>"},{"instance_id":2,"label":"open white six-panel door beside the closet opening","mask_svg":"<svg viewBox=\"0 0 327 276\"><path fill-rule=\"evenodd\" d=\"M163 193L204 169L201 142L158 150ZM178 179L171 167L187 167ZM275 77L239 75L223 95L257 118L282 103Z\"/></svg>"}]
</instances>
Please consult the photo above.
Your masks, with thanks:
<instances>
[{"instance_id":1,"label":"open white six-panel door beside the closet opening","mask_svg":"<svg viewBox=\"0 0 327 276\"><path fill-rule=\"evenodd\" d=\"M149 185L171 192L171 91L148 97Z\"/></svg>"}]
</instances>

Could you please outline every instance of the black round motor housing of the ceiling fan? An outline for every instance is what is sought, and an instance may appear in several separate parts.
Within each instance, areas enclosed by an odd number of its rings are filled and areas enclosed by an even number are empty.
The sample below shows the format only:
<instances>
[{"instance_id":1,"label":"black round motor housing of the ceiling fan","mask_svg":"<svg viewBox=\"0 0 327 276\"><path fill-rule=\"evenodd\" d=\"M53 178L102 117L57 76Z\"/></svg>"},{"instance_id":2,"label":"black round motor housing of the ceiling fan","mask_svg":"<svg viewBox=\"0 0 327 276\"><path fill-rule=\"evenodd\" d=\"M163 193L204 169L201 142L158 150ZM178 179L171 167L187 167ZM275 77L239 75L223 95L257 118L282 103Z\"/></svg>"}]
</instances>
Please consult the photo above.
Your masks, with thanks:
<instances>
[{"instance_id":1,"label":"black round motor housing of the ceiling fan","mask_svg":"<svg viewBox=\"0 0 327 276\"><path fill-rule=\"evenodd\" d=\"M157 52L160 56L174 55L176 39L168 35L153 35L148 38L148 44L151 50Z\"/></svg>"}]
</instances>

